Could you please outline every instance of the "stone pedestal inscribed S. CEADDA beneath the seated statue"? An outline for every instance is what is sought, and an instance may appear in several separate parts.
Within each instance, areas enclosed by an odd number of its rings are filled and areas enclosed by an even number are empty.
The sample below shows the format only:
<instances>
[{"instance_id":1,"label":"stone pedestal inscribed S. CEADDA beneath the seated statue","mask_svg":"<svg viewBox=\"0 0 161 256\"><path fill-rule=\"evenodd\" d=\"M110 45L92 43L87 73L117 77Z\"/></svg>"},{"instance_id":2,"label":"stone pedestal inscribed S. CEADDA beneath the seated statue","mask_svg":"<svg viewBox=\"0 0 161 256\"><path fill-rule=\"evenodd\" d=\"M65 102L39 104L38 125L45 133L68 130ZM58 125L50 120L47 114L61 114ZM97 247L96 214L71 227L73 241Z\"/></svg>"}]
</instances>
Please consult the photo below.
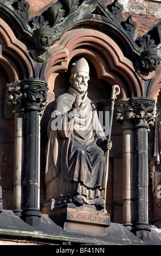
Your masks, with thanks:
<instances>
[{"instance_id":1,"label":"stone pedestal inscribed S. CEADDA beneath the seated statue","mask_svg":"<svg viewBox=\"0 0 161 256\"><path fill-rule=\"evenodd\" d=\"M48 203L44 203L43 213L47 213L45 209L49 210ZM103 235L107 233L108 226L110 225L110 214L107 214L105 209L96 210L93 205L77 207L73 203L63 204L54 207L50 212L48 211L48 214L54 216L57 224L67 231Z\"/></svg>"}]
</instances>

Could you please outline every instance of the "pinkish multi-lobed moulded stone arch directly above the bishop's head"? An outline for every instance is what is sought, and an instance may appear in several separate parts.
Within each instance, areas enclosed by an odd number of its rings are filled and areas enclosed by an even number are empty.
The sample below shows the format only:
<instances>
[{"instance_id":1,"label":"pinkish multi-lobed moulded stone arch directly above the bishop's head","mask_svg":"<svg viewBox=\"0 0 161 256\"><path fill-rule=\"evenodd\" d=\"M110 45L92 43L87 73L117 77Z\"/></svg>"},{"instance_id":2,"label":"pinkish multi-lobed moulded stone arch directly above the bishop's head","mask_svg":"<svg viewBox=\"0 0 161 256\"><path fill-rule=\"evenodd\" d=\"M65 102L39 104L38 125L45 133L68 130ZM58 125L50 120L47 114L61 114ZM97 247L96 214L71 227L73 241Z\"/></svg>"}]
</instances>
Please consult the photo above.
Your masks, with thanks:
<instances>
[{"instance_id":1,"label":"pinkish multi-lobed moulded stone arch directly above the bishop's head","mask_svg":"<svg viewBox=\"0 0 161 256\"><path fill-rule=\"evenodd\" d=\"M92 63L99 79L111 86L120 86L121 98L143 96L141 78L132 62L124 57L119 45L102 32L88 28L68 31L50 47L50 54L49 62L41 71L41 77L47 81L54 72L66 72L72 58L83 56Z\"/></svg>"}]
</instances>

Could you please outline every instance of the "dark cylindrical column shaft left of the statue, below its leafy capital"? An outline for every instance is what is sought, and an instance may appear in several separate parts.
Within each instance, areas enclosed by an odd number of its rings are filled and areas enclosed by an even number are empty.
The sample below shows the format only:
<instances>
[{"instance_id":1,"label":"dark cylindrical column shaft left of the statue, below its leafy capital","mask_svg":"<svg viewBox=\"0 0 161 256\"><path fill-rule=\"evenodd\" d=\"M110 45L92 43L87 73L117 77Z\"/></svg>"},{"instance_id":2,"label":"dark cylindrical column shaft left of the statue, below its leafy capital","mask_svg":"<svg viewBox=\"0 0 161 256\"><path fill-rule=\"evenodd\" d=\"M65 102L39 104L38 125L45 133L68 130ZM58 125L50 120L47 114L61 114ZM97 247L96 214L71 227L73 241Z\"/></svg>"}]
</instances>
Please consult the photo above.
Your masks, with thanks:
<instances>
[{"instance_id":1,"label":"dark cylindrical column shaft left of the statue, below its leafy capital","mask_svg":"<svg viewBox=\"0 0 161 256\"><path fill-rule=\"evenodd\" d=\"M40 118L38 111L27 113L27 205L24 210L26 222L40 222Z\"/></svg>"}]
</instances>

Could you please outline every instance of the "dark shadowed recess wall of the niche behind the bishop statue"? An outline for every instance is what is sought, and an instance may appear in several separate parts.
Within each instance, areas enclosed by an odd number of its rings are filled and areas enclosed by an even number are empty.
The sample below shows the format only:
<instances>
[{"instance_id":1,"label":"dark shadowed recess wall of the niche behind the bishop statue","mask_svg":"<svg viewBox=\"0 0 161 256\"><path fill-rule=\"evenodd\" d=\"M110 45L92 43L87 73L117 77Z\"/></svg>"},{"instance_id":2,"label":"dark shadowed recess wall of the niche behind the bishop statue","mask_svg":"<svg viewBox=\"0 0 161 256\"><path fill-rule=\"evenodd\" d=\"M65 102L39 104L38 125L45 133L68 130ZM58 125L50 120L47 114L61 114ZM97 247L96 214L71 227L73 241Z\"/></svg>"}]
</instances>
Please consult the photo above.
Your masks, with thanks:
<instances>
[{"instance_id":1,"label":"dark shadowed recess wall of the niche behind the bishop statue","mask_svg":"<svg viewBox=\"0 0 161 256\"><path fill-rule=\"evenodd\" d=\"M46 163L46 158L45 158L45 150L46 150L46 145L48 142L48 137L47 137L47 125L48 121L51 117L51 113L53 112L53 107L54 107L54 102L55 99L63 94L66 93L68 90L68 87L70 86L69 83L69 77L70 77L70 66L74 62L75 59L78 59L80 57L85 57L88 61L89 64L89 76L90 80L88 81L88 97L91 99L94 103L95 106L99 111L105 114L105 111L109 112L109 117L110 117L110 107L111 107L111 84L108 82L106 79L102 79L98 77L98 74L96 72L95 66L93 63L87 58L86 54L85 56L83 54L78 54L74 56L72 59L70 59L70 62L68 64L68 70L66 72L54 72L49 76L48 79L48 105L46 109L44 110L42 119L41 119L41 186L40 186L40 200L43 202L46 198L46 186L44 183L44 168L45 168L45 163ZM104 115L105 117L105 115ZM115 118L114 118L115 119ZM105 121L105 119L104 119ZM121 140L121 130L120 130L120 124L117 124L116 126L116 121L114 120L114 126L112 130L112 135L118 136L119 137L119 142ZM113 138L114 141L114 138ZM121 153L118 152L119 150L121 151L121 147L117 149L117 139L113 142L114 145L114 150L112 153L112 158L118 156L120 157ZM113 176L112 176L112 160L110 160L110 168L109 168L109 179L108 179L108 188L107 188L107 198L108 198L108 210L109 212L112 213L112 187L113 187ZM119 161L121 163L121 161ZM121 176L121 174L120 174ZM120 217L121 220L121 217Z\"/></svg>"}]
</instances>

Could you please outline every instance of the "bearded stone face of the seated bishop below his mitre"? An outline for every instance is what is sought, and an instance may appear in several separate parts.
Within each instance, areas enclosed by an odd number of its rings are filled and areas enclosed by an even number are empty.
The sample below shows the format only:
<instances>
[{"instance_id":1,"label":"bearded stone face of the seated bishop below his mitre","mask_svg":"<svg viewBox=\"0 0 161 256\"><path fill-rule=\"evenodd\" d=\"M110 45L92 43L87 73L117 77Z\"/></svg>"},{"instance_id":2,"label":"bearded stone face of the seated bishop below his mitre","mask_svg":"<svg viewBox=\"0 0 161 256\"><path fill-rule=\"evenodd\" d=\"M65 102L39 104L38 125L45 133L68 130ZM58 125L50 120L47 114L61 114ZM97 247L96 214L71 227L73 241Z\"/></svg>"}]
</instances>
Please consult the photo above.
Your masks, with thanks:
<instances>
[{"instance_id":1,"label":"bearded stone face of the seated bishop below his mitre","mask_svg":"<svg viewBox=\"0 0 161 256\"><path fill-rule=\"evenodd\" d=\"M71 84L78 93L85 93L88 89L89 76L87 72L77 72L72 76Z\"/></svg>"}]
</instances>

